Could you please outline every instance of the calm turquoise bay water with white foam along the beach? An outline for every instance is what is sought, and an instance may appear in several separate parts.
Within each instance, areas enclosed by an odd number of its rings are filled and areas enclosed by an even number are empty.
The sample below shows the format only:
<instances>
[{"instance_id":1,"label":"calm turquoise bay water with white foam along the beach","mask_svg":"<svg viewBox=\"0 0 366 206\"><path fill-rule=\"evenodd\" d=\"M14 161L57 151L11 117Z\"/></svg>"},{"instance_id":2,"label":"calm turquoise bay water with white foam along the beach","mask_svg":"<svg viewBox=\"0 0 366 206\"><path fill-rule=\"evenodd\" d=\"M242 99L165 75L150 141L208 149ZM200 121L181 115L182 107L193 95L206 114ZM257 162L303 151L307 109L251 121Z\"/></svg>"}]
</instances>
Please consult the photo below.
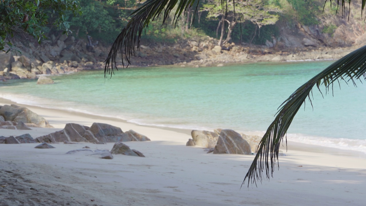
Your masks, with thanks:
<instances>
[{"instance_id":1,"label":"calm turquoise bay water with white foam along the beach","mask_svg":"<svg viewBox=\"0 0 366 206\"><path fill-rule=\"evenodd\" d=\"M332 62L253 63L224 67L150 67L53 76L55 84L0 83L18 103L117 117L143 125L264 132L277 107ZM325 90L323 88L323 93ZM296 115L289 140L366 152L366 86L341 82L332 94L314 89L313 106Z\"/></svg>"}]
</instances>

